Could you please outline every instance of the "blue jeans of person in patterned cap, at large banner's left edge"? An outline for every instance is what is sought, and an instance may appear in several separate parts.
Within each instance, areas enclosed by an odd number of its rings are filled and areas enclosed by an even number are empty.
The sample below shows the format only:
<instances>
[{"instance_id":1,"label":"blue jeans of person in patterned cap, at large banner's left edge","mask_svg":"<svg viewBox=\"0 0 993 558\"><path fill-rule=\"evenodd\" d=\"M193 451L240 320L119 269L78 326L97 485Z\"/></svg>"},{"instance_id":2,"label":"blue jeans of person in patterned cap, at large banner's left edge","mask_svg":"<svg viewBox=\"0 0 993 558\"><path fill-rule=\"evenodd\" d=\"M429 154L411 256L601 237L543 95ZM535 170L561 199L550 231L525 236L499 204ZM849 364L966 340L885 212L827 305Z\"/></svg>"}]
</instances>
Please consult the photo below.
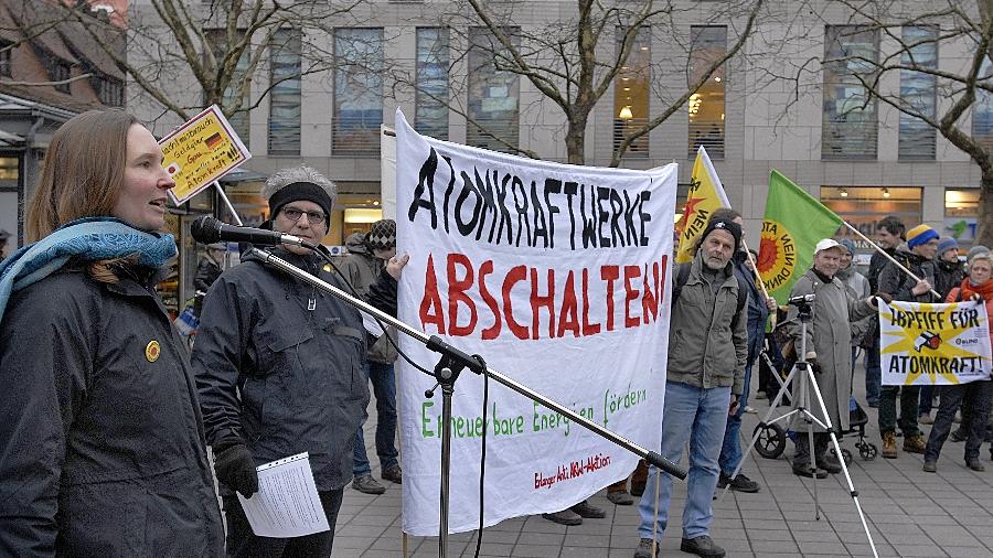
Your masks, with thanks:
<instances>
[{"instance_id":1,"label":"blue jeans of person in patterned cap, at large banner's left edge","mask_svg":"<svg viewBox=\"0 0 993 558\"><path fill-rule=\"evenodd\" d=\"M399 454L396 451L396 376L393 364L370 362L363 367L363 372L367 379L372 379L373 394L376 396L376 455L380 457L380 466L388 469L397 464ZM367 476L372 469L365 453L362 425L355 433L354 446L352 473L356 477Z\"/></svg>"}]
</instances>

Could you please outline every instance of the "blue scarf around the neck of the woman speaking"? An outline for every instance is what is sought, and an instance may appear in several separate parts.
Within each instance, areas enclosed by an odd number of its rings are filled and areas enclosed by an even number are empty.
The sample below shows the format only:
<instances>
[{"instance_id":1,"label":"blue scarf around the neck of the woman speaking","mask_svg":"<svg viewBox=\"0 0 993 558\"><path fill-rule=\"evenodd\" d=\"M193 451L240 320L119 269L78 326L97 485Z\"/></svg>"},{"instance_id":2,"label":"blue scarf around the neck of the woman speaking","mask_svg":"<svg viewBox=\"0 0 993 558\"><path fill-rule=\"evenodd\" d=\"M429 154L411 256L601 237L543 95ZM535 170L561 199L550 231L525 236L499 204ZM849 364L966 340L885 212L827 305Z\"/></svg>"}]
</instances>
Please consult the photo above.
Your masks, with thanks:
<instances>
[{"instance_id":1,"label":"blue scarf around the neck of the woman speaking","mask_svg":"<svg viewBox=\"0 0 993 558\"><path fill-rule=\"evenodd\" d=\"M0 261L0 320L13 291L44 279L70 258L87 261L138 255L138 265L161 267L177 255L172 235L146 233L115 217L86 217L22 246Z\"/></svg>"}]
</instances>

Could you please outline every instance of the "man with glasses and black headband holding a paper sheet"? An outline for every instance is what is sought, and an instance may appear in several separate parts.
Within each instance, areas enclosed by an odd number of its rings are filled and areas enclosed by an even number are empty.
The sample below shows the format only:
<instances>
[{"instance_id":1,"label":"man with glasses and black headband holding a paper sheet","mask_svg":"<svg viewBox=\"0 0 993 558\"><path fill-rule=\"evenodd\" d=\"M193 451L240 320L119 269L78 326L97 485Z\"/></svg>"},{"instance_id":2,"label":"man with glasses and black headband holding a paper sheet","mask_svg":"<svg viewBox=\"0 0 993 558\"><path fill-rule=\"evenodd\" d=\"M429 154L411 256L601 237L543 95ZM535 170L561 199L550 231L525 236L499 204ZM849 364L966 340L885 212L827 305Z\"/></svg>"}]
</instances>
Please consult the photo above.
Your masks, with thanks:
<instances>
[{"instance_id":1,"label":"man with glasses and black headband holding a paper sheet","mask_svg":"<svg viewBox=\"0 0 993 558\"><path fill-rule=\"evenodd\" d=\"M274 174L263 195L270 211L263 228L320 245L334 206L330 180L309 167L292 167ZM346 289L309 248L269 251ZM406 257L391 258L370 288L370 304L396 314L396 279L405 264ZM365 355L357 310L250 251L211 287L193 369L221 484L228 556L331 556L342 494L352 479L352 442L369 403ZM296 538L256 536L235 492L248 497L258 491L257 465L303 452L310 455L330 530Z\"/></svg>"}]
</instances>

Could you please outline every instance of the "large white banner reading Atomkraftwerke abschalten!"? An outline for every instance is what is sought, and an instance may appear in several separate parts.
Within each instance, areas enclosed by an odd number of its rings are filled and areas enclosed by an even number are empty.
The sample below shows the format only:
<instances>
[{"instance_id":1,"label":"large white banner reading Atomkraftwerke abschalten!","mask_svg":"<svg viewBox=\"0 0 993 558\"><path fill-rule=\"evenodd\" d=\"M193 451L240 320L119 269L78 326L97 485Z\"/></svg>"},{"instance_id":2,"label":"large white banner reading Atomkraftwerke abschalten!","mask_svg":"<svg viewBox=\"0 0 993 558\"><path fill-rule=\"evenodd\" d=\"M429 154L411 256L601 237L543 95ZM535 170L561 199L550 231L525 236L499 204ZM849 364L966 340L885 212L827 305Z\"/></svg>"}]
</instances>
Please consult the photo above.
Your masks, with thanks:
<instances>
[{"instance_id":1,"label":"large white banner reading Atomkraftwerke abschalten!","mask_svg":"<svg viewBox=\"0 0 993 558\"><path fill-rule=\"evenodd\" d=\"M399 319L654 451L661 443L676 165L534 161L425 138L397 111ZM427 368L438 357L401 335ZM437 535L441 393L401 366L404 530ZM479 522L482 378L452 411L450 532ZM490 382L484 525L557 512L637 458Z\"/></svg>"}]
</instances>

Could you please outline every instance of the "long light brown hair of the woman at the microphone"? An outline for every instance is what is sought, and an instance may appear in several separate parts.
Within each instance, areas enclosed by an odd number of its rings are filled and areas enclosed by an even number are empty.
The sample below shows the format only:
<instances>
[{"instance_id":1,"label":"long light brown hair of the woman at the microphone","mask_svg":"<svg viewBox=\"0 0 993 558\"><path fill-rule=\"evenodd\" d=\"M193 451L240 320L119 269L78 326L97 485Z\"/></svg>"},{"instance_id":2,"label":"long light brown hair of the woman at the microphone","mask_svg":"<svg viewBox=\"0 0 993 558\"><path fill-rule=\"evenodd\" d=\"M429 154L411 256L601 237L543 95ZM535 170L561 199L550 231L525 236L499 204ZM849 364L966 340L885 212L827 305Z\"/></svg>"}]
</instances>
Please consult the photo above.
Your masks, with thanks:
<instances>
[{"instance_id":1,"label":"long light brown hair of the woman at the microphone","mask_svg":"<svg viewBox=\"0 0 993 558\"><path fill-rule=\"evenodd\" d=\"M58 128L28 206L28 242L71 221L111 214L124 184L128 130L136 124L122 110L90 110Z\"/></svg>"}]
</instances>

